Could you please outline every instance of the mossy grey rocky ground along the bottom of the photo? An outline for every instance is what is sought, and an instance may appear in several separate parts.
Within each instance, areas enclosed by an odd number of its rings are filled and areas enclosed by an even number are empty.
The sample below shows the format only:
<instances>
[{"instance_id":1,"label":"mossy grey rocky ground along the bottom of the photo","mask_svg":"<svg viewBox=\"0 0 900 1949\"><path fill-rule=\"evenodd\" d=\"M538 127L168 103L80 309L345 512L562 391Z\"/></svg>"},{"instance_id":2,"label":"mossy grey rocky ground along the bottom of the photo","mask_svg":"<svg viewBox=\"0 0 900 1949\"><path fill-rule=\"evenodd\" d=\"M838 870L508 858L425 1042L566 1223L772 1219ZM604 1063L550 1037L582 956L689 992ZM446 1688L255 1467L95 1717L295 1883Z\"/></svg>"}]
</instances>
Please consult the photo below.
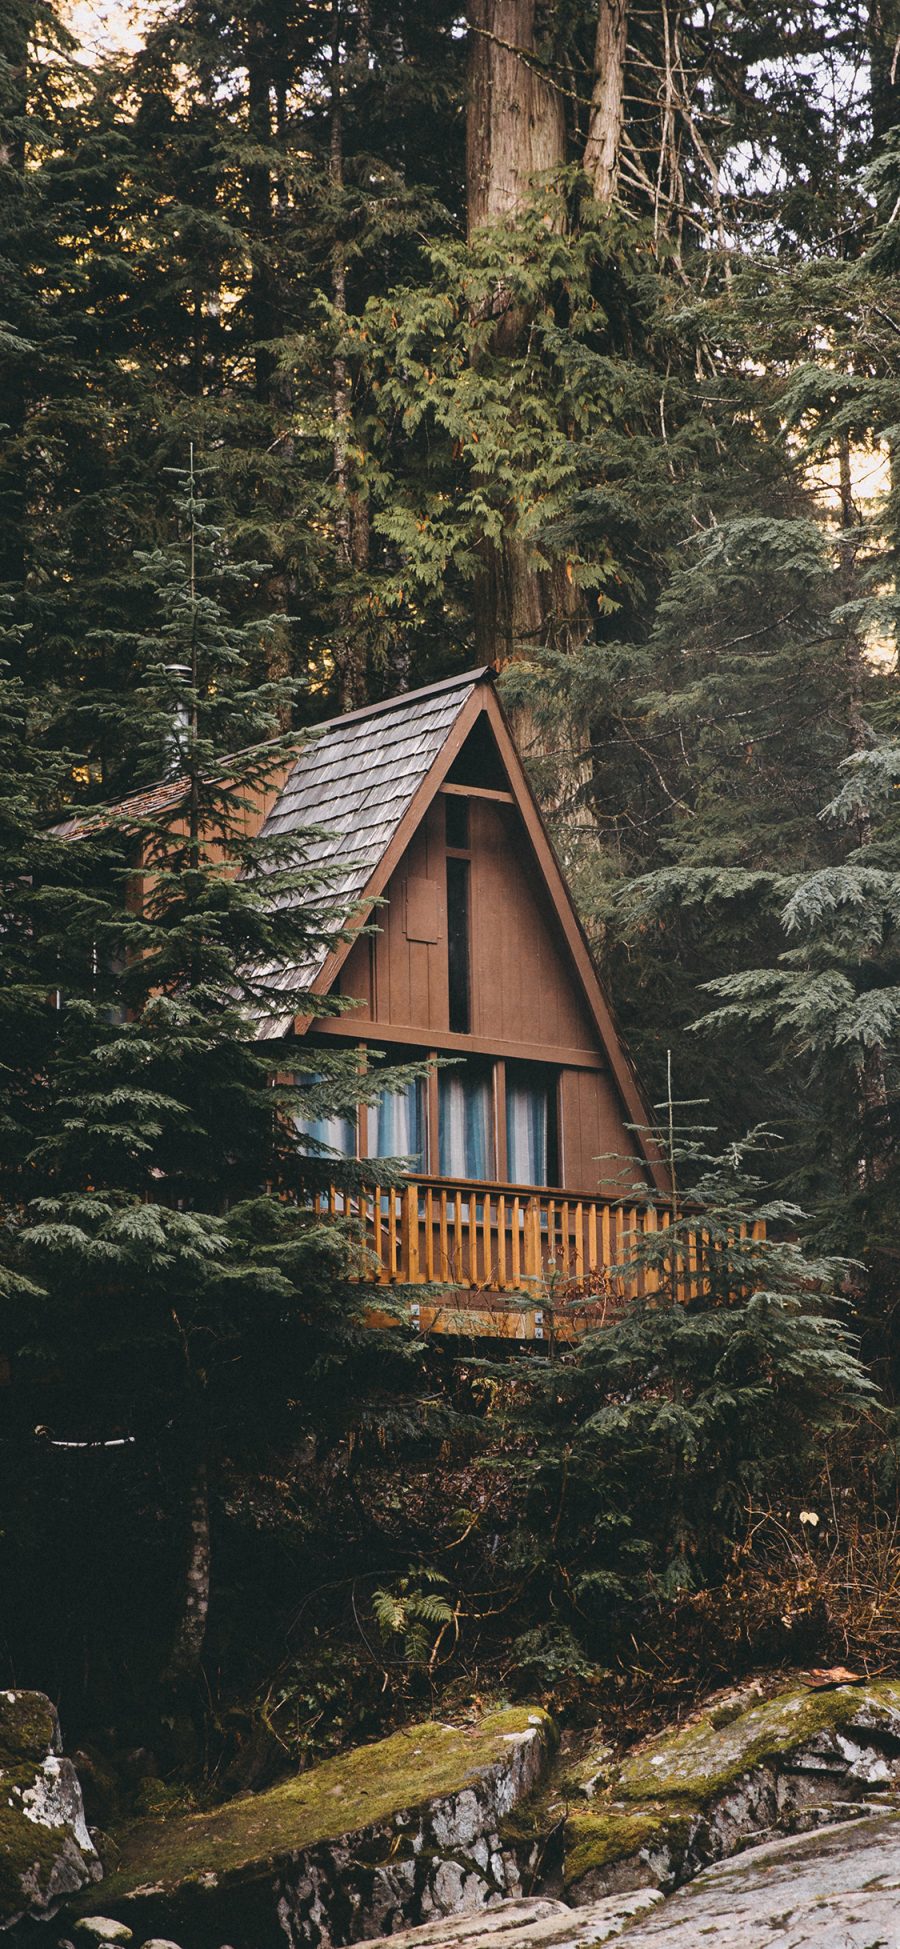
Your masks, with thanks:
<instances>
[{"instance_id":1,"label":"mossy grey rocky ground along the bottom of the photo","mask_svg":"<svg viewBox=\"0 0 900 1949\"><path fill-rule=\"evenodd\" d=\"M0 1721L4 1698L27 1766L58 1777L47 1701L0 1694ZM6 1752L21 1764L10 1733ZM625 1756L602 1737L555 1756L528 1707L409 1727L267 1793L97 1836L107 1875L80 1896L99 1863L76 1783L62 1805L8 1779L6 1926L27 1912L29 1949L900 1949L896 1682L750 1684Z\"/></svg>"}]
</instances>

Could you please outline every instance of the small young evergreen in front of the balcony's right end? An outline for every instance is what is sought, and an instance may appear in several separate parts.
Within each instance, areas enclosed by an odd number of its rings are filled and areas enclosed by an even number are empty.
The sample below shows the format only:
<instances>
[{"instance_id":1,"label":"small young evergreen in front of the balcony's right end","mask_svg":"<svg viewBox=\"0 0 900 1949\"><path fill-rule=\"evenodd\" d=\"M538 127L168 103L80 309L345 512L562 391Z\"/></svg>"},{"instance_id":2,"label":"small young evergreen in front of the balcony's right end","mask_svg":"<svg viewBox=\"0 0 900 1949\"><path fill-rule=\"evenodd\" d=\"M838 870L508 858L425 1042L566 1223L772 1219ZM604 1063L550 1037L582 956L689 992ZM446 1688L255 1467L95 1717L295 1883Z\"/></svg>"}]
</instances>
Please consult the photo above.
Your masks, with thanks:
<instances>
[{"instance_id":1,"label":"small young evergreen in front of the balcony's right end","mask_svg":"<svg viewBox=\"0 0 900 1949\"><path fill-rule=\"evenodd\" d=\"M847 1265L806 1253L803 1214L766 1197L748 1167L760 1134L721 1158L703 1136L682 1148L703 1277L686 1292L692 1210L637 1242L645 1298L516 1382L514 1559L530 1602L551 1602L588 1653L715 1583L748 1499L803 1493L826 1438L873 1399L844 1319Z\"/></svg>"}]
</instances>

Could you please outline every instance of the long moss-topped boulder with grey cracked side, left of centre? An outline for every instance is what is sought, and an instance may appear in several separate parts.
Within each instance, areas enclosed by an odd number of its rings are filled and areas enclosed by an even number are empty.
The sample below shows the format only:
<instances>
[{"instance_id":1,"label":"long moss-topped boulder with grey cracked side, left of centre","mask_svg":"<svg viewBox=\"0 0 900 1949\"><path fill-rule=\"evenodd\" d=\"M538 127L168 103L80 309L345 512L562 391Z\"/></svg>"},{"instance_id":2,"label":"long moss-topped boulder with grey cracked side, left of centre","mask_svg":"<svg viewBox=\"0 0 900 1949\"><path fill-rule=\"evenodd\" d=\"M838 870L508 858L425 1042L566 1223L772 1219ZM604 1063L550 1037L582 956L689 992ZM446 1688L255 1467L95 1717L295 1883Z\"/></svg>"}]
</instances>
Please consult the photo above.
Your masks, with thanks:
<instances>
[{"instance_id":1,"label":"long moss-topped boulder with grey cracked side, left of centre","mask_svg":"<svg viewBox=\"0 0 900 1949\"><path fill-rule=\"evenodd\" d=\"M103 1912L134 1941L337 1949L520 1892L501 1822L553 1746L542 1711L413 1725L210 1815L119 1830Z\"/></svg>"}]
</instances>

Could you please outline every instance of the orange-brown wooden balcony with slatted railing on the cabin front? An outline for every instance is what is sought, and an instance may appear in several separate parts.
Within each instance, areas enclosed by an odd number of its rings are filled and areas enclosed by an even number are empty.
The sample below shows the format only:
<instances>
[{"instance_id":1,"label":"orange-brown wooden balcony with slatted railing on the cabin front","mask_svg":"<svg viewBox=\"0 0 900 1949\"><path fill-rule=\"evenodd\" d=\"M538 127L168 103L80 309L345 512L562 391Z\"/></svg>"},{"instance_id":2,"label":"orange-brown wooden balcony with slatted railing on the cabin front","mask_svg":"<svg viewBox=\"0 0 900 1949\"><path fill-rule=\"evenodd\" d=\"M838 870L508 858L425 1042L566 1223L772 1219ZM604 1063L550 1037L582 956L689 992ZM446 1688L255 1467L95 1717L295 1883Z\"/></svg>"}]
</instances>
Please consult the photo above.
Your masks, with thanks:
<instances>
[{"instance_id":1,"label":"orange-brown wooden balcony with slatted railing on the cabin front","mask_svg":"<svg viewBox=\"0 0 900 1949\"><path fill-rule=\"evenodd\" d=\"M641 1242L672 1228L670 1210L538 1185L415 1177L353 1197L331 1189L316 1208L358 1234L358 1279L372 1286L444 1286L411 1302L423 1331L571 1341L660 1284ZM740 1226L742 1240L764 1228ZM703 1230L672 1234L678 1298L703 1290ZM378 1318L378 1306L374 1306ZM388 1318L384 1314L382 1318Z\"/></svg>"}]
</instances>

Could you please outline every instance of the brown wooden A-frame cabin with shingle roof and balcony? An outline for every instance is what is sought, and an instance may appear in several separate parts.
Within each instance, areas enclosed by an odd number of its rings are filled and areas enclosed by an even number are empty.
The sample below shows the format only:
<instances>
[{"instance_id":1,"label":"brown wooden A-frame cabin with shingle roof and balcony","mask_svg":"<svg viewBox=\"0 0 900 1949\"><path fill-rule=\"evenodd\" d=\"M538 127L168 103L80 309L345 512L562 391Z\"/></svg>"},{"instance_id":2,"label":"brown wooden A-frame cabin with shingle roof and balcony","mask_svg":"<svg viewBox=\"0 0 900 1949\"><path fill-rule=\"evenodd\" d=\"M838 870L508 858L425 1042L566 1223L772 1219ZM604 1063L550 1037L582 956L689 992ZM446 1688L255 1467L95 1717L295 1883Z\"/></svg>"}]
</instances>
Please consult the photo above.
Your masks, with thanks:
<instances>
[{"instance_id":1,"label":"brown wooden A-frame cabin with shingle roof and balcony","mask_svg":"<svg viewBox=\"0 0 900 1949\"><path fill-rule=\"evenodd\" d=\"M456 1058L308 1125L341 1156L411 1160L401 1191L325 1201L360 1226L360 1277L446 1288L413 1302L431 1329L596 1323L647 1277L610 1267L668 1224L668 1173L493 672L319 727L263 830L310 826L325 836L306 858L341 865L335 891L372 932L310 971L353 1012L267 1023L286 1068L314 1078L325 1041L364 1062Z\"/></svg>"}]
</instances>

